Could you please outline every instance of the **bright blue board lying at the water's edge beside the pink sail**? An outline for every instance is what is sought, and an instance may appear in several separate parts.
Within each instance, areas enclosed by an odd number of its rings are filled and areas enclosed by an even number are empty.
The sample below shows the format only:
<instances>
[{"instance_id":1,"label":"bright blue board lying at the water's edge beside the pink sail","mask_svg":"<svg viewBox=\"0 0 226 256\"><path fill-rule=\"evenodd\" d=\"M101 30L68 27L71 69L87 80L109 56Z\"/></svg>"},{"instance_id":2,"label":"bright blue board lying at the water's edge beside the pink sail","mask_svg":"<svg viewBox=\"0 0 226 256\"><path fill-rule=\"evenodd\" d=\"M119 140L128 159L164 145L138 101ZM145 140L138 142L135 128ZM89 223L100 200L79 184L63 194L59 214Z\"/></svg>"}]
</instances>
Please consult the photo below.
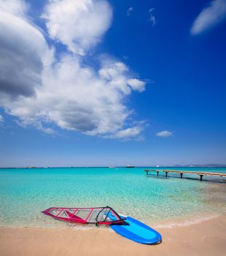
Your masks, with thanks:
<instances>
[{"instance_id":1,"label":"bright blue board lying at the water's edge beside the pink sail","mask_svg":"<svg viewBox=\"0 0 226 256\"><path fill-rule=\"evenodd\" d=\"M114 219L112 214L109 214L108 217ZM110 227L121 236L140 244L158 244L162 241L160 233L157 233L152 227L139 222L137 219L125 217L125 222L128 222L129 225L111 225Z\"/></svg>"}]
</instances>

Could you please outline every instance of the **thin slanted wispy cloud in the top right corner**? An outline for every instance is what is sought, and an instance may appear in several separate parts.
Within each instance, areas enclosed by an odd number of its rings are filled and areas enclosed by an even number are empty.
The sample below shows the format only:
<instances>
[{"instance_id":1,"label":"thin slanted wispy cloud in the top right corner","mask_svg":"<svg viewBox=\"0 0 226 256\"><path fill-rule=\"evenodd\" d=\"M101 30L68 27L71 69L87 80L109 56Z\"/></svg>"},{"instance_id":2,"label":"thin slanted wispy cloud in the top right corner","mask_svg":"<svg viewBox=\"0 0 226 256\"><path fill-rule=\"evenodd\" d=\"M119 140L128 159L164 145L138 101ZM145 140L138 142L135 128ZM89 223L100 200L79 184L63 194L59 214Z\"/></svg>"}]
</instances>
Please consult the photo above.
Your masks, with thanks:
<instances>
[{"instance_id":1,"label":"thin slanted wispy cloud in the top right corner","mask_svg":"<svg viewBox=\"0 0 226 256\"><path fill-rule=\"evenodd\" d=\"M191 34L211 29L226 18L226 0L214 0L204 8L192 24Z\"/></svg>"}]
</instances>

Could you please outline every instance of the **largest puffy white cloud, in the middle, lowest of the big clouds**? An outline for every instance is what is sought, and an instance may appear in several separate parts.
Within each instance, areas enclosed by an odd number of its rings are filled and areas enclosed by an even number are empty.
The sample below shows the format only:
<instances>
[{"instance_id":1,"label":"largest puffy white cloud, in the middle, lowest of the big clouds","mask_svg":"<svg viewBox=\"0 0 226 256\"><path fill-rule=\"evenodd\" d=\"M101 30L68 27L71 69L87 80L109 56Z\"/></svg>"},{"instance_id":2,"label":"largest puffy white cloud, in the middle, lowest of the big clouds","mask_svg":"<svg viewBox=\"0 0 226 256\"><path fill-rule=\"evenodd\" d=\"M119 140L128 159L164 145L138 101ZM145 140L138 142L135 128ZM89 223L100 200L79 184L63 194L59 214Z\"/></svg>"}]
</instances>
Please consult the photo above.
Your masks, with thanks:
<instances>
[{"instance_id":1,"label":"largest puffy white cloud, in the middle, lowest of the big clouds","mask_svg":"<svg viewBox=\"0 0 226 256\"><path fill-rule=\"evenodd\" d=\"M48 133L53 132L47 129L53 122L62 129L87 135L134 138L141 126L123 129L131 113L123 105L123 98L131 92L127 72L128 67L120 62L95 72L83 67L76 57L66 55L44 70L43 86L36 89L35 97L20 97L5 103L5 107L20 118L21 125L34 125Z\"/></svg>"}]
</instances>

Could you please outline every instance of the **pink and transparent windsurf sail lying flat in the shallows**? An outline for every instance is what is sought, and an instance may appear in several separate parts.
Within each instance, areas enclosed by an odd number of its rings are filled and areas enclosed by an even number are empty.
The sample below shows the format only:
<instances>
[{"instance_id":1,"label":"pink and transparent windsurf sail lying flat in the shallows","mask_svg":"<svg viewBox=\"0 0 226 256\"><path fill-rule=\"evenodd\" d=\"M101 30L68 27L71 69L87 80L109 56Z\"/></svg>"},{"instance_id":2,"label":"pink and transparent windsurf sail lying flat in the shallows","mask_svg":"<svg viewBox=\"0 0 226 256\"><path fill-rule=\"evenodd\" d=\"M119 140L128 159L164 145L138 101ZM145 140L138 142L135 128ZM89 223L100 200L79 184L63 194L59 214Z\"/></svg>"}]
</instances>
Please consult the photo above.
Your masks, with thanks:
<instances>
[{"instance_id":1,"label":"pink and transparent windsurf sail lying flat in the shallows","mask_svg":"<svg viewBox=\"0 0 226 256\"><path fill-rule=\"evenodd\" d=\"M120 217L109 206L93 208L51 207L42 211L43 214L66 222L96 225L128 225L125 218Z\"/></svg>"}]
</instances>

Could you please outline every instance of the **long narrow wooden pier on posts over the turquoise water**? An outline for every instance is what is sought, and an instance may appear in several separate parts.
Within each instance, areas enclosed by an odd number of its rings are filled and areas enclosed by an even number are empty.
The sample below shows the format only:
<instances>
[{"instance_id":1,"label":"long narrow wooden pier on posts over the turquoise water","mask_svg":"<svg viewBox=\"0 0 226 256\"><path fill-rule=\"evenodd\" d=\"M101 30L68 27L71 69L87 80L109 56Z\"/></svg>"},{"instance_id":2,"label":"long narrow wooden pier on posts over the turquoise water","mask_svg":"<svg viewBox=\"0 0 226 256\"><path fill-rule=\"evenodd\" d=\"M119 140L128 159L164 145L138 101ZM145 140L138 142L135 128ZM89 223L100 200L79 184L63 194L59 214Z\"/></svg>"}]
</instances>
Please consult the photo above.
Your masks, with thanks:
<instances>
[{"instance_id":1,"label":"long narrow wooden pier on posts over the turquoise water","mask_svg":"<svg viewBox=\"0 0 226 256\"><path fill-rule=\"evenodd\" d=\"M160 172L165 173L165 177L167 178L168 173L178 173L181 178L183 178L183 174L197 174L200 176L200 181L203 180L203 176L215 176L215 177L226 177L226 173L209 173L209 172L197 172L197 171L188 171L188 170L144 170L148 175L149 172L157 173L157 176Z\"/></svg>"}]
</instances>

